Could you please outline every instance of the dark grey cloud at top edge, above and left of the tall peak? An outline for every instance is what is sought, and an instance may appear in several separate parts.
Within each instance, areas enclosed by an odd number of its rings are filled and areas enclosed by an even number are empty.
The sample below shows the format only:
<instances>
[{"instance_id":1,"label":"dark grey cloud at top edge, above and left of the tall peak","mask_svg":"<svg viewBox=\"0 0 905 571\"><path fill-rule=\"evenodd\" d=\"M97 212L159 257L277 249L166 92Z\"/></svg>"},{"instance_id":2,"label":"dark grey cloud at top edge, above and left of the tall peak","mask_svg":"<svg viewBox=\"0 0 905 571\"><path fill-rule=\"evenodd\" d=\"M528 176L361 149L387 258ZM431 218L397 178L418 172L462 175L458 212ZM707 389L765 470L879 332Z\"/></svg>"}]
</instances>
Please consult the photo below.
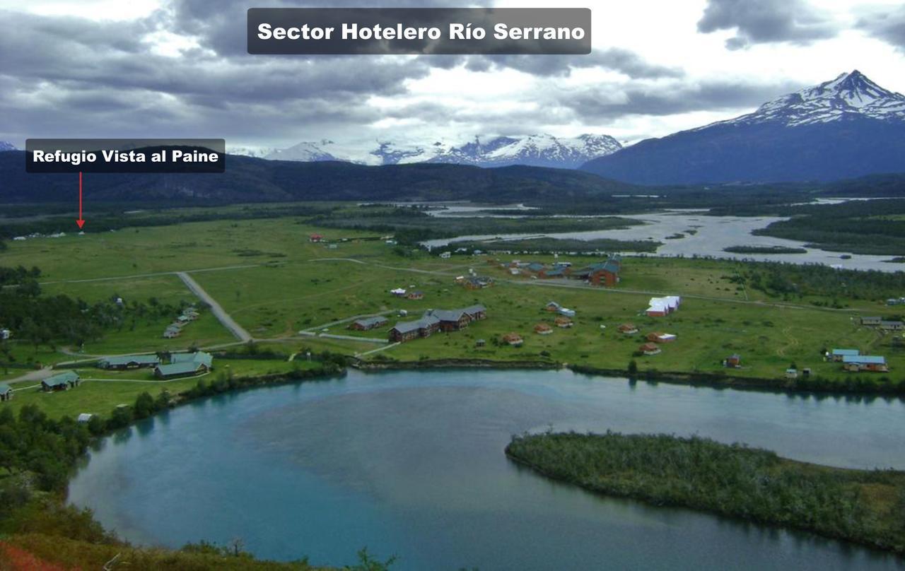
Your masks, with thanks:
<instances>
[{"instance_id":1,"label":"dark grey cloud at top edge, above and left of the tall peak","mask_svg":"<svg viewBox=\"0 0 905 571\"><path fill-rule=\"evenodd\" d=\"M753 43L810 43L839 32L832 20L806 0L708 0L698 31L732 29L736 35L726 41L730 50Z\"/></svg>"}]
</instances>

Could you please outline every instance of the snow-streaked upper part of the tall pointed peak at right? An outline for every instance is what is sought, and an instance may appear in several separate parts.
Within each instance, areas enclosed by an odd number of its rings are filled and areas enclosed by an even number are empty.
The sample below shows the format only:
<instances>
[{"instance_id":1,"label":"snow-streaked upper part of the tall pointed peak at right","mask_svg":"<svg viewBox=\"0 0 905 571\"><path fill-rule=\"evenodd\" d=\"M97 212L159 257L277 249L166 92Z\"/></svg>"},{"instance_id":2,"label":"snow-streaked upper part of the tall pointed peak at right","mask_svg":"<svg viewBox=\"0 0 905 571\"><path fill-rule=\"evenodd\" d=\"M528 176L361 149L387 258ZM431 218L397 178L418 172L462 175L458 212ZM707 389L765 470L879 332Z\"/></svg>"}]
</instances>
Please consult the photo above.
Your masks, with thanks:
<instances>
[{"instance_id":1,"label":"snow-streaked upper part of the tall pointed peak at right","mask_svg":"<svg viewBox=\"0 0 905 571\"><path fill-rule=\"evenodd\" d=\"M764 103L754 113L720 123L752 125L773 121L786 127L797 127L847 116L905 120L905 95L884 90L855 70L843 73L833 81L824 81Z\"/></svg>"}]
</instances>

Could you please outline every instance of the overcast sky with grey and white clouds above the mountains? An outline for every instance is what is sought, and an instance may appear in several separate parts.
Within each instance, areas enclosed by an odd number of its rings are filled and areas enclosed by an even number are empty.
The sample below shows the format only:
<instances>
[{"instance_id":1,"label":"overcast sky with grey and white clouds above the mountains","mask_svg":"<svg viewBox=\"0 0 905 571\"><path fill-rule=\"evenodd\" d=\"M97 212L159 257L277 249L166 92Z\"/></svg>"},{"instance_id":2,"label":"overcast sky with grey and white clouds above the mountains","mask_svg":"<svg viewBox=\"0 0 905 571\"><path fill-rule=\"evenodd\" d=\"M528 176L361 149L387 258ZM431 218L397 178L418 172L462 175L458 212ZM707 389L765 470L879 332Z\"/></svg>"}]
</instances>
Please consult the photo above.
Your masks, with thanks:
<instances>
[{"instance_id":1,"label":"overcast sky with grey and white clouds above the mountains","mask_svg":"<svg viewBox=\"0 0 905 571\"><path fill-rule=\"evenodd\" d=\"M0 0L0 140L198 137L284 148L547 132L634 142L728 119L853 69L905 92L901 0L434 4L591 7L594 50L249 55L247 8L317 4Z\"/></svg>"}]
</instances>

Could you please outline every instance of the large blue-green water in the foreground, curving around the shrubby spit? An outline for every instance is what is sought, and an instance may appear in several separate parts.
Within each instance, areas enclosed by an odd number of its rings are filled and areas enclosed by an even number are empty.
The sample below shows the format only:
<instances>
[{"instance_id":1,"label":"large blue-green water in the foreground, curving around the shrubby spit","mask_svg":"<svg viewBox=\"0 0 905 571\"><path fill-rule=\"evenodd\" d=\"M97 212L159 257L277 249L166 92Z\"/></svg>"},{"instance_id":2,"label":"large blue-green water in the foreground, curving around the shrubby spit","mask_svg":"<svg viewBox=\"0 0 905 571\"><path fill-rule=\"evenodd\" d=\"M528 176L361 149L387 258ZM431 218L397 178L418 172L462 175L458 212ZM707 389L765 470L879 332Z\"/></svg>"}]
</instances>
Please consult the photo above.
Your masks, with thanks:
<instances>
[{"instance_id":1,"label":"large blue-green water in the foreground, curving around the shrubby spit","mask_svg":"<svg viewBox=\"0 0 905 571\"><path fill-rule=\"evenodd\" d=\"M102 441L70 485L123 538L241 537L258 557L394 569L893 569L811 534L595 496L509 462L513 433L697 433L803 461L905 468L900 400L442 370L264 387Z\"/></svg>"}]
</instances>

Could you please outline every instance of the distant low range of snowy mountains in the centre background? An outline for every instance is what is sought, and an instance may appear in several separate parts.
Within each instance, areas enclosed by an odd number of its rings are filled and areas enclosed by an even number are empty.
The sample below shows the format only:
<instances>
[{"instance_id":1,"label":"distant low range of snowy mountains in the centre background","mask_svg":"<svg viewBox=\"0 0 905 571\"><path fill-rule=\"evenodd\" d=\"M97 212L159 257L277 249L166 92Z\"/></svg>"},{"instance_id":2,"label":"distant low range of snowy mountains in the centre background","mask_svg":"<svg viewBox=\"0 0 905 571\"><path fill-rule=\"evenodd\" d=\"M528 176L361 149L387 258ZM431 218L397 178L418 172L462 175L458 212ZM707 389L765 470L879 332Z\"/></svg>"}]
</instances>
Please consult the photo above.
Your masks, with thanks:
<instances>
[{"instance_id":1,"label":"distant low range of snowy mountains in the centre background","mask_svg":"<svg viewBox=\"0 0 905 571\"><path fill-rule=\"evenodd\" d=\"M455 163L478 167L529 165L577 168L592 158L603 157L619 148L622 148L619 142L608 135L581 135L575 138L557 138L546 134L475 137L469 142L460 144L436 140L422 145L377 141L370 148L338 144L325 139L275 150L264 158L300 161L340 160L364 165Z\"/></svg>"}]
</instances>

